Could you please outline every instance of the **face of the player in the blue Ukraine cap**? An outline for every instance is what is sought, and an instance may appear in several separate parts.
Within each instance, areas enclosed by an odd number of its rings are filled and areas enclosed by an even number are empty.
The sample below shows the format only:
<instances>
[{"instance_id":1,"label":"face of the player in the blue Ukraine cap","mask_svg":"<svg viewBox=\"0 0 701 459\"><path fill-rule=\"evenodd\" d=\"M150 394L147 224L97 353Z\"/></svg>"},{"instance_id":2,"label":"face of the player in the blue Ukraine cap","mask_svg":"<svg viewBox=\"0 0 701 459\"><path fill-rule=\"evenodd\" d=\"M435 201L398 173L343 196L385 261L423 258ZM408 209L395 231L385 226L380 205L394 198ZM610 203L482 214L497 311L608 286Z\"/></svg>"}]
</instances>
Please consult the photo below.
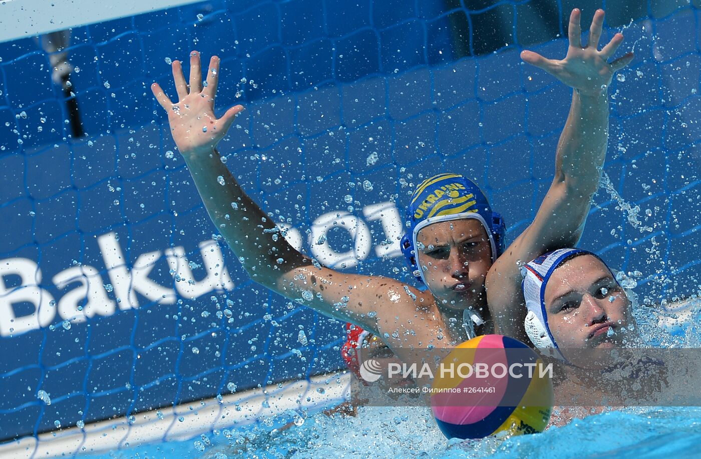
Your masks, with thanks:
<instances>
[{"instance_id":1,"label":"face of the player in the blue Ukraine cap","mask_svg":"<svg viewBox=\"0 0 701 459\"><path fill-rule=\"evenodd\" d=\"M416 235L416 262L428 289L443 306L486 305L484 279L491 267L491 243L482 223L462 218L433 223Z\"/></svg>"}]
</instances>

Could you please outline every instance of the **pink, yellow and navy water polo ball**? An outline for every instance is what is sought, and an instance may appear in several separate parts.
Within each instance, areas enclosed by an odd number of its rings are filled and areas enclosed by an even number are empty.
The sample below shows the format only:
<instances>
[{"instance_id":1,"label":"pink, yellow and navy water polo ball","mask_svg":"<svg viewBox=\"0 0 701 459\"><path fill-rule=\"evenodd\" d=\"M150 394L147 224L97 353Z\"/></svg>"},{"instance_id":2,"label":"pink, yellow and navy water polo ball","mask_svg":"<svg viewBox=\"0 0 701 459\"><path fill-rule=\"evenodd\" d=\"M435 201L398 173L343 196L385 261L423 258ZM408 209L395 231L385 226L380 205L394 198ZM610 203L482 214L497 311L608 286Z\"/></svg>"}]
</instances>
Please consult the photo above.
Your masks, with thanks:
<instances>
[{"instance_id":1,"label":"pink, yellow and navy water polo ball","mask_svg":"<svg viewBox=\"0 0 701 459\"><path fill-rule=\"evenodd\" d=\"M440 369L431 409L448 438L543 432L550 421L550 375L521 341L499 334L470 339L444 358Z\"/></svg>"}]
</instances>

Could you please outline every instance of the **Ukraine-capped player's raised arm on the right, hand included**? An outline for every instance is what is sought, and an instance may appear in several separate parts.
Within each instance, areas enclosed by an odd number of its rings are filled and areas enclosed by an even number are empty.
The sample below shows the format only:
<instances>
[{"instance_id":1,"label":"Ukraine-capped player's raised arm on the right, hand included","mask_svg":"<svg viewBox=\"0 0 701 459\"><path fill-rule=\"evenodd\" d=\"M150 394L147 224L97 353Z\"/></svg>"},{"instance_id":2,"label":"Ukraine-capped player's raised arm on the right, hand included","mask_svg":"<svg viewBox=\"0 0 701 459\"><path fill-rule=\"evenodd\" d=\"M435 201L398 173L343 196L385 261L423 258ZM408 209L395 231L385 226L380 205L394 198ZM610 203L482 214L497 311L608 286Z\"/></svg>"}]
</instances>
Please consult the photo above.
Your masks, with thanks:
<instances>
[{"instance_id":1,"label":"Ukraine-capped player's raised arm on the right, hand included","mask_svg":"<svg viewBox=\"0 0 701 459\"><path fill-rule=\"evenodd\" d=\"M496 260L486 277L487 304L495 330L523 341L524 298L519 262L578 243L590 210L592 195L599 188L601 168L608 142L608 85L613 73L633 58L632 52L608 63L623 41L615 34L598 50L604 11L597 10L590 28L589 43L581 43L580 10L569 22L569 48L563 60L546 59L524 51L524 62L550 73L573 88L569 116L557 144L555 176L536 218Z\"/></svg>"}]
</instances>

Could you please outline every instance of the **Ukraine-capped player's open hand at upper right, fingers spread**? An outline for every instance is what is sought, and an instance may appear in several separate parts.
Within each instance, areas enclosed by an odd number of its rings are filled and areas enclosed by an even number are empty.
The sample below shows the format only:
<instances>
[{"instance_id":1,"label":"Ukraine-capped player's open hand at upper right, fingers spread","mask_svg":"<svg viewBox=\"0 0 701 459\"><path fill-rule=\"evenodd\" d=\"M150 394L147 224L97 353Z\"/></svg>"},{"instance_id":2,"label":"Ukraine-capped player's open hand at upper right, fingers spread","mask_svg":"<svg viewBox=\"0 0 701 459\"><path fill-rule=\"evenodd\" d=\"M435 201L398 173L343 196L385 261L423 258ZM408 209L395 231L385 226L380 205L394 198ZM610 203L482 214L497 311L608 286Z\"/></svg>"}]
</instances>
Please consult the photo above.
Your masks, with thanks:
<instances>
[{"instance_id":1,"label":"Ukraine-capped player's open hand at upper right, fingers spread","mask_svg":"<svg viewBox=\"0 0 701 459\"><path fill-rule=\"evenodd\" d=\"M523 51L521 59L547 71L581 94L606 94L613 73L629 64L633 59L633 53L628 52L623 57L608 63L608 59L615 54L623 41L623 35L620 33L615 34L611 41L604 48L601 48L601 51L598 50L601 28L604 25L604 10L597 10L594 13L594 20L592 20L592 27L589 31L589 43L583 47L580 26L581 14L581 11L575 8L570 15L569 48L564 59L547 59L533 51Z\"/></svg>"}]
</instances>

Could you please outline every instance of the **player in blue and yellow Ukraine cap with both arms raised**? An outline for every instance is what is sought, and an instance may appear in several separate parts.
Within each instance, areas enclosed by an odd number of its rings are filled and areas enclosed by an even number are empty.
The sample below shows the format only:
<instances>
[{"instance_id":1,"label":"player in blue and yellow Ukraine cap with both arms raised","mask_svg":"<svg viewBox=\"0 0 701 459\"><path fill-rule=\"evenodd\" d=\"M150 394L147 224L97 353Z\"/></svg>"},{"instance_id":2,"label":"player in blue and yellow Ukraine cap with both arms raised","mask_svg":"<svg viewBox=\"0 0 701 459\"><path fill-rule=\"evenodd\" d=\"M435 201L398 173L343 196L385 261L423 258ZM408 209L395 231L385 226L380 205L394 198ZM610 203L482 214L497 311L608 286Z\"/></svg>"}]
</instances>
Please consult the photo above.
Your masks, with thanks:
<instances>
[{"instance_id":1,"label":"player in blue and yellow Ukraine cap with both arms raised","mask_svg":"<svg viewBox=\"0 0 701 459\"><path fill-rule=\"evenodd\" d=\"M608 135L606 88L613 73L632 58L626 55L608 64L607 59L622 41L620 34L597 50L604 17L601 10L592 22L592 45L582 48L579 16L578 10L571 15L570 47L564 60L550 61L533 52L523 54L526 62L576 89L557 150L555 180L536 219L493 264L498 257L498 241L494 221L484 217L491 214L491 209L479 188L458 174L437 177L441 182L437 188L423 183L412 204L421 213L414 211L410 234L403 241L413 245L416 274L426 282L426 291L391 278L345 274L322 267L279 237L278 227L236 183L215 148L243 110L234 106L222 118L215 117L217 57L212 57L203 85L200 56L191 53L189 88L181 64L173 62L179 97L176 104L156 83L152 90L168 112L173 139L210 218L250 277L326 316L378 334L402 358L402 349L446 347L465 341L468 332L463 325L471 330L475 324L476 332L485 332L485 326L489 327L485 278L490 291L516 291L520 278L512 271L517 260L529 260L549 248L578 240L604 160ZM447 192L438 197L435 190ZM425 192L433 194L435 201L430 202ZM457 199L464 201L458 206ZM409 255L411 248L404 248L409 249ZM496 297L500 300L495 309L498 321L509 324L505 315L518 309L520 295L519 290L511 298ZM466 310L472 323L463 324Z\"/></svg>"}]
</instances>

